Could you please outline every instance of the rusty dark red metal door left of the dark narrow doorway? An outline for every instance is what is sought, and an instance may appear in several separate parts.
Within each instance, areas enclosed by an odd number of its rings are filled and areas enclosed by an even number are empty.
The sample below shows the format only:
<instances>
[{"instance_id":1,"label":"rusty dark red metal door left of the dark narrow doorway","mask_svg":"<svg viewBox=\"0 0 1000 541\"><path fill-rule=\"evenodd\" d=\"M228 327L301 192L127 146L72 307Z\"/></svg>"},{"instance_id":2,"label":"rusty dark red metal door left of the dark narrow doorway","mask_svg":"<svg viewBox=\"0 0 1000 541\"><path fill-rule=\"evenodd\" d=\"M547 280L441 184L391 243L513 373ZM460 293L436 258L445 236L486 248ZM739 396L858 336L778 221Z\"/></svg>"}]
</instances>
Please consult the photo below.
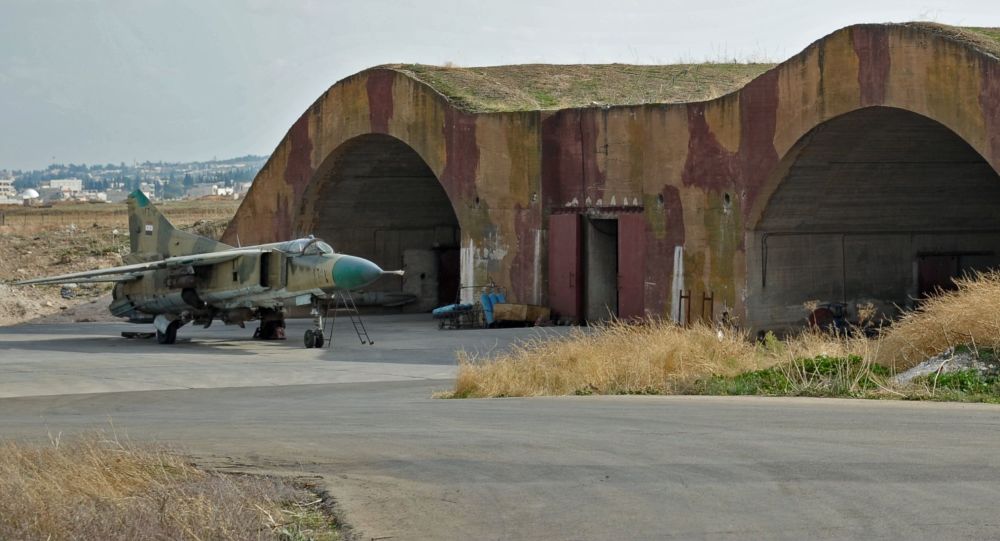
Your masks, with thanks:
<instances>
[{"instance_id":1,"label":"rusty dark red metal door left of the dark narrow doorway","mask_svg":"<svg viewBox=\"0 0 1000 541\"><path fill-rule=\"evenodd\" d=\"M549 216L549 305L560 318L582 316L580 242L579 214Z\"/></svg>"}]
</instances>

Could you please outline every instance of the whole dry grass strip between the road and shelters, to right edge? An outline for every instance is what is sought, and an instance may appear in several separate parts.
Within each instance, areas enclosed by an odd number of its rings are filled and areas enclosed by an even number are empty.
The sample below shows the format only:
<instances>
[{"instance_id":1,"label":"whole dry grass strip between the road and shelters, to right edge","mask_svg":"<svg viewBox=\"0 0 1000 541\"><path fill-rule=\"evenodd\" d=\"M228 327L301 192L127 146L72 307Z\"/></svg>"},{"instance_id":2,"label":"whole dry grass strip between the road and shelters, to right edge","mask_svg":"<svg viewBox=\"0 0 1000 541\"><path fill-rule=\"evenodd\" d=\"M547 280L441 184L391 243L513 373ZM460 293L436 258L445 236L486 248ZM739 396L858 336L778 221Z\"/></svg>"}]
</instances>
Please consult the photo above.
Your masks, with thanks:
<instances>
[{"instance_id":1,"label":"whole dry grass strip between the road and shelters, to right edge","mask_svg":"<svg viewBox=\"0 0 1000 541\"><path fill-rule=\"evenodd\" d=\"M958 290L926 300L874 339L860 332L844 337L807 331L754 342L731 328L683 328L651 320L538 338L488 358L460 353L455 388L445 396L751 394L757 389L764 394L933 397L919 386L897 387L889 376L950 347L1000 351L1000 272L957 284ZM976 399L989 398L984 396Z\"/></svg>"}]
</instances>

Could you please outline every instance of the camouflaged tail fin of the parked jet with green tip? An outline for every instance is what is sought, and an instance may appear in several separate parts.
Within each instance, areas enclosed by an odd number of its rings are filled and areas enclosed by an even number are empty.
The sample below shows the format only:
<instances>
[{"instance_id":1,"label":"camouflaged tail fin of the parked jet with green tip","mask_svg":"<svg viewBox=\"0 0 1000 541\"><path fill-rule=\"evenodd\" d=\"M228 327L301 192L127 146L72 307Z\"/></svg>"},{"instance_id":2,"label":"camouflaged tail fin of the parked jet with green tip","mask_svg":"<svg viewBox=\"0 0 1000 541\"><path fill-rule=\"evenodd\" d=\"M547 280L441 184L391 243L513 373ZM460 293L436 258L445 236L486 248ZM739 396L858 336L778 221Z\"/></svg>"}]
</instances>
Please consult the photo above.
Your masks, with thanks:
<instances>
[{"instance_id":1,"label":"camouflaged tail fin of the parked jet with green tip","mask_svg":"<svg viewBox=\"0 0 1000 541\"><path fill-rule=\"evenodd\" d=\"M128 196L128 228L132 253L126 257L127 263L232 248L210 238L177 229L141 190L135 190Z\"/></svg>"}]
</instances>

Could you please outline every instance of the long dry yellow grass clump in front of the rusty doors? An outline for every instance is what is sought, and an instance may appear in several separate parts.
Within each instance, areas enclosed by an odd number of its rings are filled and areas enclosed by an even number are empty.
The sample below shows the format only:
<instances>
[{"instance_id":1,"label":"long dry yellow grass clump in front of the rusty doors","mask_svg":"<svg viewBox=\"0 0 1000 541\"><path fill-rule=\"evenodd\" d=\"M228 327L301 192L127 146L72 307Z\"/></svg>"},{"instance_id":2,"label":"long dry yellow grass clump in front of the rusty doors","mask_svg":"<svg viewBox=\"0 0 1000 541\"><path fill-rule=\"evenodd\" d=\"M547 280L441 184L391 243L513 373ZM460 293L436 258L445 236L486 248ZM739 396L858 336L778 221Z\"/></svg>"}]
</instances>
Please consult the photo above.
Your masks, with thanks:
<instances>
[{"instance_id":1,"label":"long dry yellow grass clump in front of the rusty doors","mask_svg":"<svg viewBox=\"0 0 1000 541\"><path fill-rule=\"evenodd\" d=\"M615 321L545 337L498 356L459 354L454 397L684 392L698 378L735 376L817 355L865 355L864 339L806 333L755 343L744 331L668 321Z\"/></svg>"}]
</instances>

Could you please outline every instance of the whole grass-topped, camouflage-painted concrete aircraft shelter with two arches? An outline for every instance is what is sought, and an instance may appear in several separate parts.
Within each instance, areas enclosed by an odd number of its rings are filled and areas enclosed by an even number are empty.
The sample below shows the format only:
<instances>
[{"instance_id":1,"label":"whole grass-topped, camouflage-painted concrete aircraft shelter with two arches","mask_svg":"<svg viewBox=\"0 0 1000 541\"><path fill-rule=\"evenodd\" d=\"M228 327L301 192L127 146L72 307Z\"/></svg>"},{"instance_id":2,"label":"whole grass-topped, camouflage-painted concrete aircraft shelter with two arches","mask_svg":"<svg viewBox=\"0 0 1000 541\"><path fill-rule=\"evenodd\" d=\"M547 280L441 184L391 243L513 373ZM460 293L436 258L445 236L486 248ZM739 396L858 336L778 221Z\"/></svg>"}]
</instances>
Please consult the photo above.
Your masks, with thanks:
<instances>
[{"instance_id":1,"label":"whole grass-topped, camouflage-painted concrete aircraft shelter with two arches","mask_svg":"<svg viewBox=\"0 0 1000 541\"><path fill-rule=\"evenodd\" d=\"M426 310L891 315L1000 263L1000 31L857 25L777 65L378 66L291 126L226 239L315 234Z\"/></svg>"}]
</instances>

